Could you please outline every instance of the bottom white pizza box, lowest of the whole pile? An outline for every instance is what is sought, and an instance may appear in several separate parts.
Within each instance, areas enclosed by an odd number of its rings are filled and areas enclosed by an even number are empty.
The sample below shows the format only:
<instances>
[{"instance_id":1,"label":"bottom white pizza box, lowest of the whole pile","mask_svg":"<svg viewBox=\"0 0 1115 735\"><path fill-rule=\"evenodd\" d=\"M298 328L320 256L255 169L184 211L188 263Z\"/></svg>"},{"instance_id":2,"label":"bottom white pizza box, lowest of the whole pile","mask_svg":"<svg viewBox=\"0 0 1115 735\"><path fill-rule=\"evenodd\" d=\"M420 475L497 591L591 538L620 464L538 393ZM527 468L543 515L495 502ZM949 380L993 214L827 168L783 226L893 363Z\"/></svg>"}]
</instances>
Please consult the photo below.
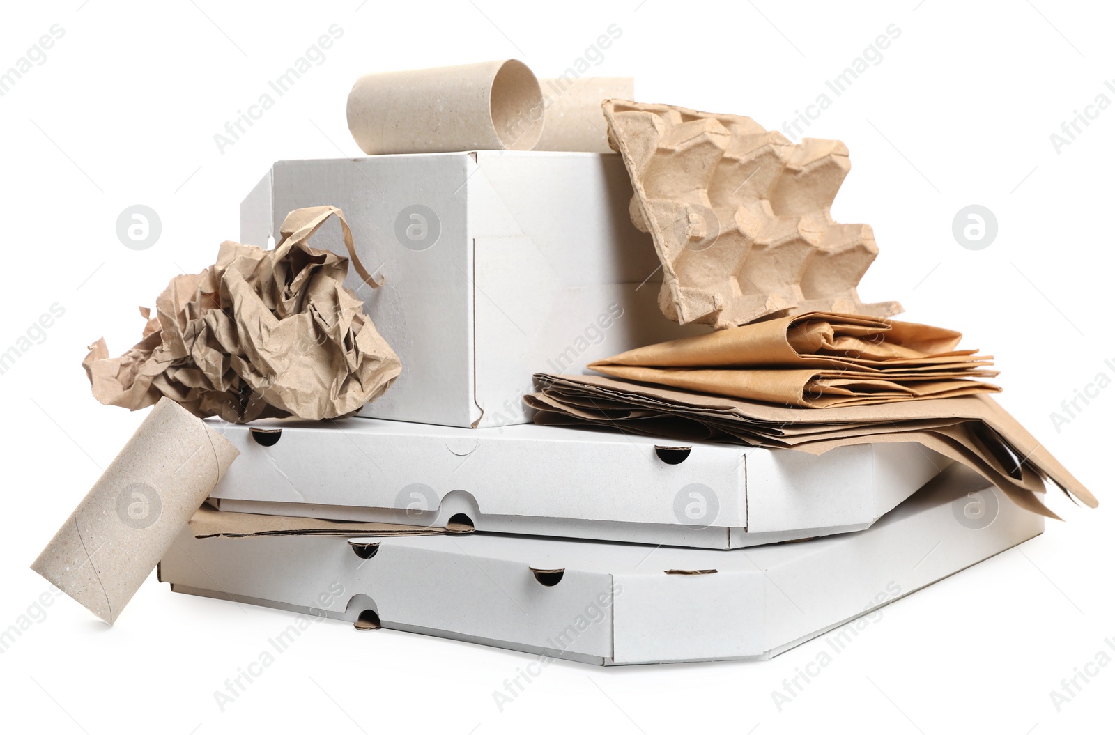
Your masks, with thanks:
<instances>
[{"instance_id":1,"label":"bottom white pizza box, lowest of the whole pile","mask_svg":"<svg viewBox=\"0 0 1115 735\"><path fill-rule=\"evenodd\" d=\"M983 509L978 522L972 504ZM1043 529L1041 516L953 465L866 531L799 543L715 551L187 531L159 579L178 592L592 664L769 658L828 631L838 651L878 620L871 611Z\"/></svg>"}]
</instances>

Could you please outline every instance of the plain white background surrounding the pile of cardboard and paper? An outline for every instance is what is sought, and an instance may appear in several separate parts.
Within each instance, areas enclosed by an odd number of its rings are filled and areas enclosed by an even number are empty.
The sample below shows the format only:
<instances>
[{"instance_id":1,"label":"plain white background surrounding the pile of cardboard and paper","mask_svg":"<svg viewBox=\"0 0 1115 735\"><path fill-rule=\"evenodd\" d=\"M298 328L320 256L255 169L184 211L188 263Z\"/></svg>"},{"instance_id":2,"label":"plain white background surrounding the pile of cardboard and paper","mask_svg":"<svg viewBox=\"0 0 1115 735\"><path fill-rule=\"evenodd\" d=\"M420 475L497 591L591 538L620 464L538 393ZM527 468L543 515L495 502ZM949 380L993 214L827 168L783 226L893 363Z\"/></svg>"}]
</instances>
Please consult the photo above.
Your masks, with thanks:
<instances>
[{"instance_id":1,"label":"plain white background surrounding the pile of cardboard and paper","mask_svg":"<svg viewBox=\"0 0 1115 735\"><path fill-rule=\"evenodd\" d=\"M48 589L28 565L143 418L90 397L85 346L104 336L117 355L136 341L136 306L237 239L240 200L273 161L360 155L345 120L357 76L506 57L556 76L611 23L622 36L594 74L633 75L642 101L768 128L896 25L882 62L809 130L852 152L833 215L874 228L881 254L861 294L899 299L908 318L993 352L1001 402L1112 500L1115 386L1059 431L1050 413L1098 373L1115 375L1115 109L1059 152L1050 134L1101 93L1115 101L1104 87L1115 78L1113 21L1104 3L1053 0L6 3L0 70L54 23L65 36L0 97L0 350L52 303L65 316L0 376L0 628ZM220 153L214 134L332 23L343 37L326 61ZM163 225L145 251L115 231L136 203ZM972 203L999 225L979 251L951 233ZM555 664L501 713L492 692L532 657L340 622L314 626L222 713L213 692L292 616L172 594L152 576L115 628L64 597L0 655L4 729L1109 732L1115 666L1059 713L1049 693L1115 637L1115 529L1106 505L1087 511L1055 493L1050 503L1066 522L888 608L780 713L770 692L822 641L767 663Z\"/></svg>"}]
</instances>

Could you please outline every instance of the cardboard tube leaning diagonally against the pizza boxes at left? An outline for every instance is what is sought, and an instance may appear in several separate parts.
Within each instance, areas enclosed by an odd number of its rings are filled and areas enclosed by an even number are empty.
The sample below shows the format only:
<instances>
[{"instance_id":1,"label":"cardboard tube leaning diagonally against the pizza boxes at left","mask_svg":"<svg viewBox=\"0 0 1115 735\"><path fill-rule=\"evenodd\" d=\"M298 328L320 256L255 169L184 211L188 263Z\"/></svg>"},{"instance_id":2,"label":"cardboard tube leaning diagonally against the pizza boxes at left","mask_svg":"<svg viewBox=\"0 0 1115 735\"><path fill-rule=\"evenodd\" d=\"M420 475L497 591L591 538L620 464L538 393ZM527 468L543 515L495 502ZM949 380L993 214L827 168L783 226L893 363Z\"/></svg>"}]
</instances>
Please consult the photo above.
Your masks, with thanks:
<instances>
[{"instance_id":1,"label":"cardboard tube leaning diagonally against the pizza boxes at left","mask_svg":"<svg viewBox=\"0 0 1115 735\"><path fill-rule=\"evenodd\" d=\"M113 625L239 454L163 398L31 569Z\"/></svg>"}]
</instances>

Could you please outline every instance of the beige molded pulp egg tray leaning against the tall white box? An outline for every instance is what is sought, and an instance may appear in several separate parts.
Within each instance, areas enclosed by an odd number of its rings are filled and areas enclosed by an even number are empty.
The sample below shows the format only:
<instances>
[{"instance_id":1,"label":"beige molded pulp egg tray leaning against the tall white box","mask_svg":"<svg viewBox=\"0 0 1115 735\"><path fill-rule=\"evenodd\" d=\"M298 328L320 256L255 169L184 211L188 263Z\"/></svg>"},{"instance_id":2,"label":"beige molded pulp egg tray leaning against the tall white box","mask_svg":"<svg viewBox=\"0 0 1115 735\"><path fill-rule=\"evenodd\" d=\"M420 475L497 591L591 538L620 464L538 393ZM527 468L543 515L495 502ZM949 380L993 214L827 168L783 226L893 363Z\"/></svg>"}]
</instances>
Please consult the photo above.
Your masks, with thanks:
<instances>
[{"instance_id":1,"label":"beige molded pulp egg tray leaning against the tall white box","mask_svg":"<svg viewBox=\"0 0 1115 735\"><path fill-rule=\"evenodd\" d=\"M830 214L851 167L838 141L792 144L749 117L605 100L631 176L631 220L662 262L659 307L716 329L770 315L888 317L856 286L879 253L871 228Z\"/></svg>"}]
</instances>

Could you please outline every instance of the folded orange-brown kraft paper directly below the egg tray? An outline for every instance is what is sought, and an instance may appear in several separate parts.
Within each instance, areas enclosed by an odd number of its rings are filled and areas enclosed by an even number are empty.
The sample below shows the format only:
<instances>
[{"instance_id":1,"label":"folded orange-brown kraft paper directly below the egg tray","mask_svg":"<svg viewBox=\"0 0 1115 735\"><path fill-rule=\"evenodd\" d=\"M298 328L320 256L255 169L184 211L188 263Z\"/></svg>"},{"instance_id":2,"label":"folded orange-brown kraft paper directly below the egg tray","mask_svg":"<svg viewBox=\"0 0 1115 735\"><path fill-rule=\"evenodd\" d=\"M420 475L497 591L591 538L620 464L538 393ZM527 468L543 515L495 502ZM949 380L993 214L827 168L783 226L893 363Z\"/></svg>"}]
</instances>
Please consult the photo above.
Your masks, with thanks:
<instances>
[{"instance_id":1,"label":"folded orange-brown kraft paper directly below the egg tray","mask_svg":"<svg viewBox=\"0 0 1115 735\"><path fill-rule=\"evenodd\" d=\"M807 408L998 391L960 332L811 312L628 350L590 368L640 383Z\"/></svg>"}]
</instances>

